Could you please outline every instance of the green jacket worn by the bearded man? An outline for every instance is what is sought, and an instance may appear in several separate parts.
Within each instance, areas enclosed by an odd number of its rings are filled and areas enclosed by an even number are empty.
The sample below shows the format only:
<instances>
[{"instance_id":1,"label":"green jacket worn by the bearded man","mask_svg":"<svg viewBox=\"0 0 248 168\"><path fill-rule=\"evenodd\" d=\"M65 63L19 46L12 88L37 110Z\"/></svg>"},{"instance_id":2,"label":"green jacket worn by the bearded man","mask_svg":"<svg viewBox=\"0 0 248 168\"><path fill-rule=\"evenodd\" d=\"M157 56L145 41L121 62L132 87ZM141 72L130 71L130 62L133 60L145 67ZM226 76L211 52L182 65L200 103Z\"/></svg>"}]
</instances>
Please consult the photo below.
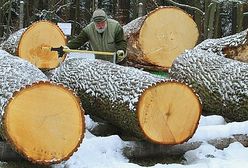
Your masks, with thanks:
<instances>
[{"instance_id":1,"label":"green jacket worn by the bearded man","mask_svg":"<svg viewBox=\"0 0 248 168\"><path fill-rule=\"evenodd\" d=\"M94 51L116 52L117 50L126 51L127 48L123 28L113 19L107 19L107 28L101 34L96 31L95 24L91 22L83 28L75 39L69 41L67 46L70 49L77 49L87 41L90 42L91 48ZM111 56L96 55L96 58L113 61Z\"/></svg>"}]
</instances>

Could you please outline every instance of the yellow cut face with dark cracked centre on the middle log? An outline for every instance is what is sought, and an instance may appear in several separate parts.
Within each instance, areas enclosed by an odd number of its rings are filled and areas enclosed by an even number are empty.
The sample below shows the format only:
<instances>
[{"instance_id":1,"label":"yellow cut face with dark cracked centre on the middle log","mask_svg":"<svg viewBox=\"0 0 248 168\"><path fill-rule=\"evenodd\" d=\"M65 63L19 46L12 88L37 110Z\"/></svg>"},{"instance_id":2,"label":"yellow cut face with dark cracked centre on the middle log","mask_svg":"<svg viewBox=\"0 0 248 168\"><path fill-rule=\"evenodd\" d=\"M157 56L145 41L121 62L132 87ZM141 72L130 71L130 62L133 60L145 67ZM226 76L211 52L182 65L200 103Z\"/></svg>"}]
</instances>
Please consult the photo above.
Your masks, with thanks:
<instances>
[{"instance_id":1,"label":"yellow cut face with dark cracked centre on the middle log","mask_svg":"<svg viewBox=\"0 0 248 168\"><path fill-rule=\"evenodd\" d=\"M201 104L195 93L180 83L168 82L147 89L138 104L144 134L161 144L178 144L195 132Z\"/></svg>"}]
</instances>

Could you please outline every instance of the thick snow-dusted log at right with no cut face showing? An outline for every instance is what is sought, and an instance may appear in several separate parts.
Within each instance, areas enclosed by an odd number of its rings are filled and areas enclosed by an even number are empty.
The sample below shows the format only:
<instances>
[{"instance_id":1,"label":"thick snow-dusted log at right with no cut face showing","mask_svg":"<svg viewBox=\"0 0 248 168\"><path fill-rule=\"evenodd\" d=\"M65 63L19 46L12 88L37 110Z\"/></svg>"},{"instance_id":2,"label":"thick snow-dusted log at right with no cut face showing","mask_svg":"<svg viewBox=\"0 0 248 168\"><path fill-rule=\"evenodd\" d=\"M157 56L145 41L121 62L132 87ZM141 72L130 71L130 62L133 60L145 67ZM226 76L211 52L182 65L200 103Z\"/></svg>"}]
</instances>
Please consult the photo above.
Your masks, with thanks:
<instances>
[{"instance_id":1,"label":"thick snow-dusted log at right with no cut face showing","mask_svg":"<svg viewBox=\"0 0 248 168\"><path fill-rule=\"evenodd\" d=\"M248 120L248 64L213 52L193 49L178 57L170 77L192 85L205 114L230 121Z\"/></svg>"}]
</instances>

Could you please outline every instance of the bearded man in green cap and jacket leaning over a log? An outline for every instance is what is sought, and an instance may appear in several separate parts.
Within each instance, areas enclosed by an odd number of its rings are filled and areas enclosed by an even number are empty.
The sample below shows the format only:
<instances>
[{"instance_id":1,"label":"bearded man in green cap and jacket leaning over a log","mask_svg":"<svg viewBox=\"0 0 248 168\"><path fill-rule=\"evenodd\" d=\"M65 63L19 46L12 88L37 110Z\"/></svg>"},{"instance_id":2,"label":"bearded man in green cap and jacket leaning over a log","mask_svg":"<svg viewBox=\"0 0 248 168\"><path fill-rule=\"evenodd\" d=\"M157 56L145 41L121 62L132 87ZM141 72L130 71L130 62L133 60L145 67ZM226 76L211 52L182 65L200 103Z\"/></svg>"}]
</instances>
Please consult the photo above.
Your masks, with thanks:
<instances>
[{"instance_id":1,"label":"bearded man in green cap and jacket leaning over a log","mask_svg":"<svg viewBox=\"0 0 248 168\"><path fill-rule=\"evenodd\" d=\"M87 41L90 42L92 50L115 52L117 63L126 56L127 42L123 28L117 21L108 19L102 9L94 11L92 22L83 28L75 39L69 41L67 47L77 49ZM111 56L96 55L96 58L113 62Z\"/></svg>"}]
</instances>

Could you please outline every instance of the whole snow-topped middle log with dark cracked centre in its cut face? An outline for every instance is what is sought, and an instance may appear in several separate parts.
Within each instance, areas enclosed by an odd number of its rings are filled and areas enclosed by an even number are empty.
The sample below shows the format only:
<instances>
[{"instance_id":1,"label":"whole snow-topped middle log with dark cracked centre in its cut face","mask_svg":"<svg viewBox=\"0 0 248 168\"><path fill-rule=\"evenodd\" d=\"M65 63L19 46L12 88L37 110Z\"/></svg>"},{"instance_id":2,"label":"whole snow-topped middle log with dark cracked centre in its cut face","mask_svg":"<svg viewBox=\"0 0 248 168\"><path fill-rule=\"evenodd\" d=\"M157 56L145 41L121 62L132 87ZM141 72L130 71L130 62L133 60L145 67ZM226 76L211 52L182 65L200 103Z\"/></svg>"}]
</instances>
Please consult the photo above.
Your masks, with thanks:
<instances>
[{"instance_id":1,"label":"whole snow-topped middle log with dark cracked centre in its cut face","mask_svg":"<svg viewBox=\"0 0 248 168\"><path fill-rule=\"evenodd\" d=\"M155 143L186 141L201 114L186 84L102 60L68 59L52 80L77 92L86 113Z\"/></svg>"}]
</instances>

